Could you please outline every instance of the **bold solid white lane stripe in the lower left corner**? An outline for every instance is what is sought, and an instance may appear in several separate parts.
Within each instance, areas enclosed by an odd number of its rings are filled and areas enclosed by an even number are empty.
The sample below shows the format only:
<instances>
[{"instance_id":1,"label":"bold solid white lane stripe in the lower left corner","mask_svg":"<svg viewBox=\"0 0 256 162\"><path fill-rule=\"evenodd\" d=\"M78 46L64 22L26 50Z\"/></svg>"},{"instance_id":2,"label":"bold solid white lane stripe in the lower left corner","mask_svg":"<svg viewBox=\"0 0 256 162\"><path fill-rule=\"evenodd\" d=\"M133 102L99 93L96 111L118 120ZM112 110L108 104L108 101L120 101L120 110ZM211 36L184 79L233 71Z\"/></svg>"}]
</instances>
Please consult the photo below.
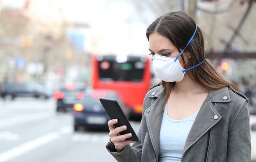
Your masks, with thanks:
<instances>
[{"instance_id":1,"label":"bold solid white lane stripe in the lower left corner","mask_svg":"<svg viewBox=\"0 0 256 162\"><path fill-rule=\"evenodd\" d=\"M36 138L32 141L28 141L22 145L14 147L11 150L1 153L0 154L0 162L8 161L12 158L15 158L21 154L28 152L30 150L33 150L36 147L39 147L40 145L43 145L50 141L56 140L59 137L60 137L59 133L48 133L48 134L46 134L42 137Z\"/></svg>"}]
</instances>

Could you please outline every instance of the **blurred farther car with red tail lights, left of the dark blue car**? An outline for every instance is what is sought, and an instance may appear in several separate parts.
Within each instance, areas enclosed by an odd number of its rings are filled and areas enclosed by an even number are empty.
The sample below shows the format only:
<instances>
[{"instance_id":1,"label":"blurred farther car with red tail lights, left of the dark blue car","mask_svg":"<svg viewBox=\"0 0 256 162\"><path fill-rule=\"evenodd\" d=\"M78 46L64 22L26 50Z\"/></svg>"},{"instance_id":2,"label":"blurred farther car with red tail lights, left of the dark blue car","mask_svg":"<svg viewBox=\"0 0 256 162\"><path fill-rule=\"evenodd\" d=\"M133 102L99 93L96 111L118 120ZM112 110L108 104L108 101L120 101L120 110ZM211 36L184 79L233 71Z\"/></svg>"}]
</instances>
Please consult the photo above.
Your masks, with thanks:
<instances>
[{"instance_id":1,"label":"blurred farther car with red tail lights, left of the dark blue car","mask_svg":"<svg viewBox=\"0 0 256 162\"><path fill-rule=\"evenodd\" d=\"M56 111L66 112L73 110L74 103L78 102L84 96L85 86L77 86L76 84L66 84L58 91L53 93L53 98L57 101Z\"/></svg>"}]
</instances>

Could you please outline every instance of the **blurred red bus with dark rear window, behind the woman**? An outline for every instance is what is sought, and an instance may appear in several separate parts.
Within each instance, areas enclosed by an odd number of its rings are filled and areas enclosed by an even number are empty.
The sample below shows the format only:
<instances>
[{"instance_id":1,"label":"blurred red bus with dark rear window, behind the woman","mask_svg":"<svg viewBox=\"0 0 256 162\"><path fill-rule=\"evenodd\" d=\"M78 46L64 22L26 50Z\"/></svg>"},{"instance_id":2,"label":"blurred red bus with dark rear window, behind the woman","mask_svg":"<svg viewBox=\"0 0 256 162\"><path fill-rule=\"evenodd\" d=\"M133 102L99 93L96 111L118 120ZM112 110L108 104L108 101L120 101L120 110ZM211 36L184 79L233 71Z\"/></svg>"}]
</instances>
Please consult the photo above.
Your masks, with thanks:
<instances>
[{"instance_id":1,"label":"blurred red bus with dark rear window, behind the woman","mask_svg":"<svg viewBox=\"0 0 256 162\"><path fill-rule=\"evenodd\" d=\"M150 79L150 58L146 56L93 56L92 87L117 91L130 108L130 117L141 116Z\"/></svg>"}]
</instances>

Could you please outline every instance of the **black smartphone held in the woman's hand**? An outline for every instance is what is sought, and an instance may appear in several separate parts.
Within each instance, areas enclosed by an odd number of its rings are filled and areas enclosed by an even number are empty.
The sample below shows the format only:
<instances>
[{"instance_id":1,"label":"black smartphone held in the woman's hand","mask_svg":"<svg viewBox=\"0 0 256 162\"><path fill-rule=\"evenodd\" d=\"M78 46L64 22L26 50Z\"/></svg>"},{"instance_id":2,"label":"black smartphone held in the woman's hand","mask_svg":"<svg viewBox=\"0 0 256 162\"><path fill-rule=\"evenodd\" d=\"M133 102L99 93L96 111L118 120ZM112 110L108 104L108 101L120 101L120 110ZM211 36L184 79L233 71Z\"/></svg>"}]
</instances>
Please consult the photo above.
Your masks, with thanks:
<instances>
[{"instance_id":1,"label":"black smartphone held in the woman's hand","mask_svg":"<svg viewBox=\"0 0 256 162\"><path fill-rule=\"evenodd\" d=\"M134 132L133 128L131 127L129 121L127 120L124 112L122 111L120 105L118 104L117 100L111 100L106 98L100 98L100 103L103 105L104 109L108 113L110 119L117 119L118 122L115 124L115 127L120 127L123 125L127 126L127 129L120 132L120 135L126 133L132 133L132 137L127 138L126 140L130 141L139 141L136 133Z\"/></svg>"}]
</instances>

